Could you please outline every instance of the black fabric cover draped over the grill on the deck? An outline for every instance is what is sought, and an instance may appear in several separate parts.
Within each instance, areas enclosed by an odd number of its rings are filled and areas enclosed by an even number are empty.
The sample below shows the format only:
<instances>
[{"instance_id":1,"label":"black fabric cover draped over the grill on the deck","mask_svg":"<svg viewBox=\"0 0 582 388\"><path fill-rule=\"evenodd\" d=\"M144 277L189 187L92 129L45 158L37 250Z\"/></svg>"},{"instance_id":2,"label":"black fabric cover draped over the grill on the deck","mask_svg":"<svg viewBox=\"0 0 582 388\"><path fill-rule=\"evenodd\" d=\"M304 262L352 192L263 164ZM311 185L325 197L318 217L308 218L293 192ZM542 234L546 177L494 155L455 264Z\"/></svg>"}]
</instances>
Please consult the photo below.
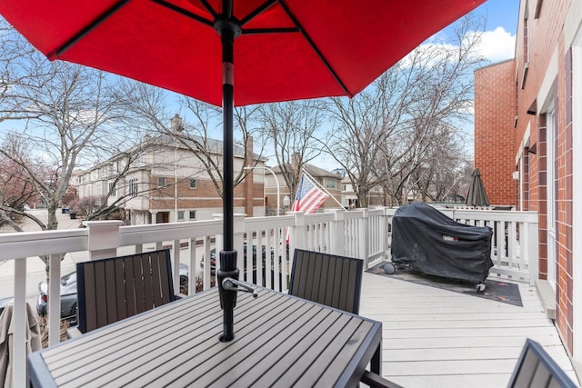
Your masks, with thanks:
<instances>
[{"instance_id":1,"label":"black fabric cover draped over the grill on the deck","mask_svg":"<svg viewBox=\"0 0 582 388\"><path fill-rule=\"evenodd\" d=\"M392 220L392 262L423 274L482 283L491 261L488 226L459 224L428 204L400 206Z\"/></svg>"}]
</instances>

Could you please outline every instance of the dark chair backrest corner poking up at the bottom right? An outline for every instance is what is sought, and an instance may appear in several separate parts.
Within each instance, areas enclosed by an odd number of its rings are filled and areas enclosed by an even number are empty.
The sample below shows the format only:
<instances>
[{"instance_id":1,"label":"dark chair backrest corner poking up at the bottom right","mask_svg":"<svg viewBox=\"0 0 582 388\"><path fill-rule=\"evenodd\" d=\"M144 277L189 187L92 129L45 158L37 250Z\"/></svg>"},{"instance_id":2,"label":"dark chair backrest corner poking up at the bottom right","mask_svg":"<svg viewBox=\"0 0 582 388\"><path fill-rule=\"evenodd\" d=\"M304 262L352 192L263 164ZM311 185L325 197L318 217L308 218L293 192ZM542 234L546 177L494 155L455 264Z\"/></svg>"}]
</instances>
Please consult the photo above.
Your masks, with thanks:
<instances>
[{"instance_id":1,"label":"dark chair backrest corner poking up at the bottom right","mask_svg":"<svg viewBox=\"0 0 582 388\"><path fill-rule=\"evenodd\" d=\"M576 388L577 385L557 366L539 343L527 338L507 387Z\"/></svg>"}]
</instances>

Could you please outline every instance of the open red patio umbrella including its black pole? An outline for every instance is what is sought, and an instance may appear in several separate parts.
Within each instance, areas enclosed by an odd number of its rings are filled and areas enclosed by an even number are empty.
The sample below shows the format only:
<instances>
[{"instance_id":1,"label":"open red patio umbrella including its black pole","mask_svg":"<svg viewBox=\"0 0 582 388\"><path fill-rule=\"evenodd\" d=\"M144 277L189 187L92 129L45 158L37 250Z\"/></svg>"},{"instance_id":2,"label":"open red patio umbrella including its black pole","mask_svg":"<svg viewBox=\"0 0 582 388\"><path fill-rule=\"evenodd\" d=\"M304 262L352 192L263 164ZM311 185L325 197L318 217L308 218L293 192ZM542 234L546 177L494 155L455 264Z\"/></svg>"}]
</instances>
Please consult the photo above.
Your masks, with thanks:
<instances>
[{"instance_id":1,"label":"open red patio umbrella including its black pole","mask_svg":"<svg viewBox=\"0 0 582 388\"><path fill-rule=\"evenodd\" d=\"M223 340L228 341L234 335L236 291L225 290L222 280L238 278L233 246L235 103L356 95L428 36L484 2L0 0L0 14L50 59L222 104L225 246L218 284L225 310Z\"/></svg>"}]
</instances>

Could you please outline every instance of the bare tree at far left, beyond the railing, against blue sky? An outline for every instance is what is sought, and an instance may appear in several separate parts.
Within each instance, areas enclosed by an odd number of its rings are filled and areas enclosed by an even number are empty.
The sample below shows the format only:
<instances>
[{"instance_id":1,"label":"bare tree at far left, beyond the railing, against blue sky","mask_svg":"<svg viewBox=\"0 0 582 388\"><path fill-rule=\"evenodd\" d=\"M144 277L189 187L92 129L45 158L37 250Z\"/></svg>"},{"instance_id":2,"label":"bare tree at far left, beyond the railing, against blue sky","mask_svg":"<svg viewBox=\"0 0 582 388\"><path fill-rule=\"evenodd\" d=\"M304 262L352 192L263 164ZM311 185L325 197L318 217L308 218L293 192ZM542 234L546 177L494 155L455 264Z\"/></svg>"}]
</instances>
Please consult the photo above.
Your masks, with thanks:
<instances>
[{"instance_id":1,"label":"bare tree at far left, beyond the railing, against blue sky","mask_svg":"<svg viewBox=\"0 0 582 388\"><path fill-rule=\"evenodd\" d=\"M0 112L9 128L0 155L25 171L48 209L46 223L24 215L43 230L55 230L55 212L74 169L95 163L122 143L124 132L114 125L125 118L123 95L114 77L49 62L15 34L0 39L13 50L0 58L5 70Z\"/></svg>"}]
</instances>

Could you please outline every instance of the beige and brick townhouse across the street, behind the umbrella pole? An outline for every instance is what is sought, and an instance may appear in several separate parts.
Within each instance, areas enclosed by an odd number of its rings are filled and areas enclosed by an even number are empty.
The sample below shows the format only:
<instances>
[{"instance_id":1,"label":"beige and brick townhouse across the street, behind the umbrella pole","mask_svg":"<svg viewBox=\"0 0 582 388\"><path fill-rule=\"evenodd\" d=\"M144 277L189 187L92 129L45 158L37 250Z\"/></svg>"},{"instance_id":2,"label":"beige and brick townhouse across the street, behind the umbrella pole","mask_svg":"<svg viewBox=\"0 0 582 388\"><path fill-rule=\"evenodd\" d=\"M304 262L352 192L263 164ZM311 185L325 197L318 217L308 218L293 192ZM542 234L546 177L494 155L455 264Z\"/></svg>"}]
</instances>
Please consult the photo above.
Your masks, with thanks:
<instances>
[{"instance_id":1,"label":"beige and brick townhouse across the street, behind the umbrella pole","mask_svg":"<svg viewBox=\"0 0 582 388\"><path fill-rule=\"evenodd\" d=\"M193 152L194 142L205 144L206 151ZM223 213L222 198L216 190L220 177L212 166L220 169L223 144L201 138L192 143L188 147L166 134L146 136L128 152L78 174L79 197L109 194L109 204L118 202L125 209L126 224L212 219L214 214ZM252 147L252 140L249 144ZM255 154L252 161L245 161L244 155L244 149L235 146L235 175L245 165L265 165L265 159ZM215 180L209 171L214 172ZM261 182L247 182L253 181L245 180L235 188L235 213L253 216L263 211L264 188Z\"/></svg>"}]
</instances>

